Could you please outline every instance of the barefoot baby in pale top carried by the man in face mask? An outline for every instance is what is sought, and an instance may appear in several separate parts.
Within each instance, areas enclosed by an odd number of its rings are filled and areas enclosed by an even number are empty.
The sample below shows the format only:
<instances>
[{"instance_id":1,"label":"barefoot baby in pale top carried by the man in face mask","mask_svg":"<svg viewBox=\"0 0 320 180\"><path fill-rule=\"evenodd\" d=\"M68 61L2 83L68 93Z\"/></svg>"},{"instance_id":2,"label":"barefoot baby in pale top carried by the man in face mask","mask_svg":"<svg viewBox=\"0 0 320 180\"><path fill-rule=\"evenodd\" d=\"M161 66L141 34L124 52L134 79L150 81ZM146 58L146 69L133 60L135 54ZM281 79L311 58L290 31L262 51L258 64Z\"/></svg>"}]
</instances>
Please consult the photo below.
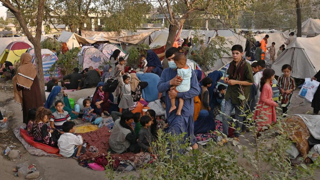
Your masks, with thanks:
<instances>
[{"instance_id":1,"label":"barefoot baby in pale top carried by the man in face mask","mask_svg":"<svg viewBox=\"0 0 320 180\"><path fill-rule=\"evenodd\" d=\"M174 89L176 92L179 92L179 93L187 92L190 89L190 80L191 80L191 73L192 73L191 68L187 65L187 58L184 54L179 53L174 56L173 60L174 60L174 63L176 63L177 65L178 76L181 78L182 82L179 86L172 86L170 89L171 90ZM175 105L176 99L173 98L170 101L171 101L171 108L169 110L169 113L177 109ZM181 115L183 103L184 103L184 100L182 98L179 98L179 105L176 113L176 115L178 116Z\"/></svg>"}]
</instances>

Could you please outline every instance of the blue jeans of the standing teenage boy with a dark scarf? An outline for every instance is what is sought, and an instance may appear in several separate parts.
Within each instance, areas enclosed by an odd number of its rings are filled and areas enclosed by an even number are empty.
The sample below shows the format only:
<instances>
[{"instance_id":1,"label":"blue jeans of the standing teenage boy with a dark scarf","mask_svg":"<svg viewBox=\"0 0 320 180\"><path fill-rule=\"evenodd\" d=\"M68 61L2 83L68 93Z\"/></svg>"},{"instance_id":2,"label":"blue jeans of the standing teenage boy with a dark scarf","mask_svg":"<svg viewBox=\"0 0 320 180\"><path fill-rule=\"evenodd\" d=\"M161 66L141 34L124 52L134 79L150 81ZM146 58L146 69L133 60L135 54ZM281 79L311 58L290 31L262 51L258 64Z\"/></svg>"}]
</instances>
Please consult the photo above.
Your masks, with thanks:
<instances>
[{"instance_id":1,"label":"blue jeans of the standing teenage boy with a dark scarf","mask_svg":"<svg viewBox=\"0 0 320 180\"><path fill-rule=\"evenodd\" d=\"M233 104L232 101L231 101L231 98L229 98L228 100L226 100L225 102L225 107L224 107L224 113L228 116L223 116L223 122L222 122L222 132L223 134L225 135L228 135L228 128L229 128L229 121L233 121L231 118L229 118L229 116L231 115L232 113L232 110L235 109L235 118L236 118L236 122L235 125L236 125L236 129L238 127L240 127L240 130L241 130L241 127L242 127L242 121L243 121L243 116L240 116L243 114L243 112L241 111L240 109L240 104ZM235 137L239 137L240 133L235 130Z\"/></svg>"}]
</instances>

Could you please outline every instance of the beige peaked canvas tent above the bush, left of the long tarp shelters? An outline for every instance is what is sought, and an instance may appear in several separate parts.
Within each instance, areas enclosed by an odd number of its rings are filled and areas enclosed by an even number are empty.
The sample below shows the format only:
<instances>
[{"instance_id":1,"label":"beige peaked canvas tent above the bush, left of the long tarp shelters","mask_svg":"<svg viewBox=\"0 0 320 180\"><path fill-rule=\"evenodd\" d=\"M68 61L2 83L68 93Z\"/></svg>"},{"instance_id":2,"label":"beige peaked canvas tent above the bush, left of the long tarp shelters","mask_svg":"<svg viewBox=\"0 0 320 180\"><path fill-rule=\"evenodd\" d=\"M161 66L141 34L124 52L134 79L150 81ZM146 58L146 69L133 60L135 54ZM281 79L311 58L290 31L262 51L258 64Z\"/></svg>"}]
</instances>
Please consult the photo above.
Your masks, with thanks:
<instances>
[{"instance_id":1,"label":"beige peaked canvas tent above the bush, left of the long tarp shelters","mask_svg":"<svg viewBox=\"0 0 320 180\"><path fill-rule=\"evenodd\" d=\"M79 43L82 44L92 44L96 41L91 39L86 39L82 36L77 35L76 33L68 32L68 31L62 31L58 41L67 43L67 46L69 49L72 49L74 47L79 47Z\"/></svg>"}]
</instances>

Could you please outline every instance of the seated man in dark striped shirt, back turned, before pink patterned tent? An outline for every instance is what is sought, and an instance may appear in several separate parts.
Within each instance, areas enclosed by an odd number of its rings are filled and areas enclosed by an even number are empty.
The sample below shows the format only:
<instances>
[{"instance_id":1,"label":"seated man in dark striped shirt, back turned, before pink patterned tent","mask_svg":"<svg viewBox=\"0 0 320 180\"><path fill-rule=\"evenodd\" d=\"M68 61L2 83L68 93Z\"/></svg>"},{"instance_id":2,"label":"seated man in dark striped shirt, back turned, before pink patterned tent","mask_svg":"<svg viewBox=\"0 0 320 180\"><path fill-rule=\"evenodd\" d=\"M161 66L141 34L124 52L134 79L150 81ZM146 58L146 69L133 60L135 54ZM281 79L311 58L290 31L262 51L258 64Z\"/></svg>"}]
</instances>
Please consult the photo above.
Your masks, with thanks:
<instances>
[{"instance_id":1,"label":"seated man in dark striped shirt, back turned, before pink patterned tent","mask_svg":"<svg viewBox=\"0 0 320 180\"><path fill-rule=\"evenodd\" d=\"M85 73L84 78L80 81L78 90L96 87L99 82L101 82L101 74L90 66L89 71Z\"/></svg>"}]
</instances>

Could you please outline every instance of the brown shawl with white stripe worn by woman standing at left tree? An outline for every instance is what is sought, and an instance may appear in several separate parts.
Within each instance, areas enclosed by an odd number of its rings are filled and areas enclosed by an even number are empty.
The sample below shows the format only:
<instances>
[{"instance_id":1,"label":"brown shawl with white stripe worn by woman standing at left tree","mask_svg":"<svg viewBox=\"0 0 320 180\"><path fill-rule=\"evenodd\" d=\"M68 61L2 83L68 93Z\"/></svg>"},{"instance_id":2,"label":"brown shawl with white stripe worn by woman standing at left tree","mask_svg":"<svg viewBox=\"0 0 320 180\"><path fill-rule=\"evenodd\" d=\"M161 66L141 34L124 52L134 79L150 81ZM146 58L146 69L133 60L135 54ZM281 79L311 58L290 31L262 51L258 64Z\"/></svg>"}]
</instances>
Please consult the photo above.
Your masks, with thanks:
<instances>
[{"instance_id":1,"label":"brown shawl with white stripe worn by woman standing at left tree","mask_svg":"<svg viewBox=\"0 0 320 180\"><path fill-rule=\"evenodd\" d=\"M20 57L20 67L18 74L13 77L14 100L22 104L22 92L18 91L17 85L21 88L30 89L34 78L36 78L37 70L35 65L31 63L32 56L29 53L22 53Z\"/></svg>"}]
</instances>

